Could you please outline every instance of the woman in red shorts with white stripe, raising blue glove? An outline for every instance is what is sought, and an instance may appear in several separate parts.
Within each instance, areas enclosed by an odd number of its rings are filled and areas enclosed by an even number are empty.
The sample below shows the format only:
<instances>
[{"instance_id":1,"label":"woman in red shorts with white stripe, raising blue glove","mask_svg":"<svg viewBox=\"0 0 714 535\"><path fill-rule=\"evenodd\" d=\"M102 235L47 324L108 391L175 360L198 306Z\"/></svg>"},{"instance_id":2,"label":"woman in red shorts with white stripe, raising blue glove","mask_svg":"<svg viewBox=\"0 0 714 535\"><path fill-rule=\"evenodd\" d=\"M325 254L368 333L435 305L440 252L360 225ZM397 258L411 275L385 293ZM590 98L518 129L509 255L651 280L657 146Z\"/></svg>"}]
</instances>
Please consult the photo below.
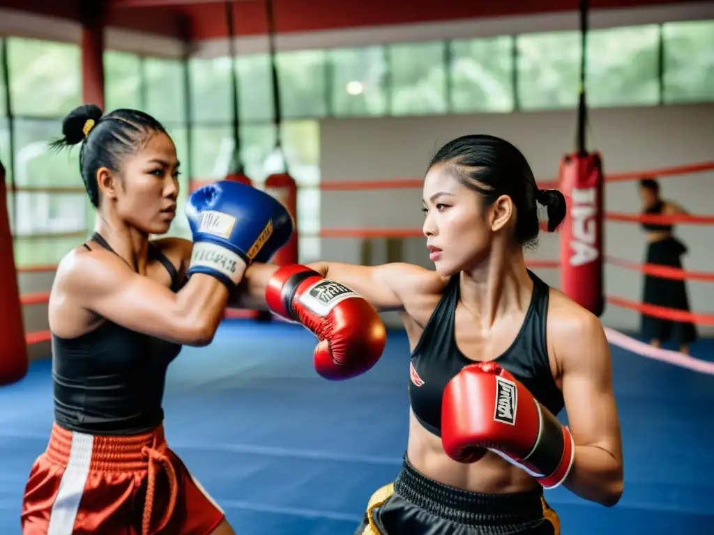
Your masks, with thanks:
<instances>
[{"instance_id":1,"label":"woman in red shorts with white stripe, raising blue glove","mask_svg":"<svg viewBox=\"0 0 714 535\"><path fill-rule=\"evenodd\" d=\"M96 232L52 285L55 423L26 484L23 534L233 534L166 445L166 368L181 345L211 341L229 290L258 250L269 258L286 243L290 215L265 193L218 183L188 201L193 244L150 241L176 215L178 161L164 127L141 111L81 106L62 131L55 148L81 143Z\"/></svg>"}]
</instances>

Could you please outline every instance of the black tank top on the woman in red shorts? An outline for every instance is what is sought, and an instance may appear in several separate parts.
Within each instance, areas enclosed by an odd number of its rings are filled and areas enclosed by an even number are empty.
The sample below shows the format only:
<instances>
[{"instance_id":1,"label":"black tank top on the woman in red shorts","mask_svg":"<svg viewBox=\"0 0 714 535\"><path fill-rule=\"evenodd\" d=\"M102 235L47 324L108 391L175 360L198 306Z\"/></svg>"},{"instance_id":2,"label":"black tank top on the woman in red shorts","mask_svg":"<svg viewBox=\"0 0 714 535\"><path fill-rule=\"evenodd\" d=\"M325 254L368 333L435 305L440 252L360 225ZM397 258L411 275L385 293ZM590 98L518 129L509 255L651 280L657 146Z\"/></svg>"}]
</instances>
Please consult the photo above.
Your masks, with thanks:
<instances>
[{"instance_id":1,"label":"black tank top on the woman in red shorts","mask_svg":"<svg viewBox=\"0 0 714 535\"><path fill-rule=\"evenodd\" d=\"M92 240L112 251L101 235ZM89 246L85 244L89 249ZM171 261L154 245L149 258L171 275L171 290L181 287ZM52 335L54 417L61 427L89 434L139 434L164 420L166 369L181 345L105 321L76 338Z\"/></svg>"}]
</instances>

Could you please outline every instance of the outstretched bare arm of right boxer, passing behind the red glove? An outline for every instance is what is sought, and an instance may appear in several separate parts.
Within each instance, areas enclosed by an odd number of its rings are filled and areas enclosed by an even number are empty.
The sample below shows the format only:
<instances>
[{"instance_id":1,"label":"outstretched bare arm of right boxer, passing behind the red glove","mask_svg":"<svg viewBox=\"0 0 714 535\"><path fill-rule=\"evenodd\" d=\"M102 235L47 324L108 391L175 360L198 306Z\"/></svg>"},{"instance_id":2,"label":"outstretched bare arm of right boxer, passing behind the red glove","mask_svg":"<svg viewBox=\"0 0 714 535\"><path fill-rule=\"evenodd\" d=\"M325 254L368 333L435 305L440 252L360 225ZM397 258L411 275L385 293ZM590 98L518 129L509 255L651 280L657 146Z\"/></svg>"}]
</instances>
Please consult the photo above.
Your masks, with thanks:
<instances>
[{"instance_id":1,"label":"outstretched bare arm of right boxer, passing behind the red glove","mask_svg":"<svg viewBox=\"0 0 714 535\"><path fill-rule=\"evenodd\" d=\"M435 272L406 263L364 266L316 262L307 266L325 278L350 287L380 311L402 310L408 294L436 293L443 287L441 277ZM277 269L277 266L271 264L253 264L248 267L238 291L231 295L231 305L265 308L266 287Z\"/></svg>"}]
</instances>

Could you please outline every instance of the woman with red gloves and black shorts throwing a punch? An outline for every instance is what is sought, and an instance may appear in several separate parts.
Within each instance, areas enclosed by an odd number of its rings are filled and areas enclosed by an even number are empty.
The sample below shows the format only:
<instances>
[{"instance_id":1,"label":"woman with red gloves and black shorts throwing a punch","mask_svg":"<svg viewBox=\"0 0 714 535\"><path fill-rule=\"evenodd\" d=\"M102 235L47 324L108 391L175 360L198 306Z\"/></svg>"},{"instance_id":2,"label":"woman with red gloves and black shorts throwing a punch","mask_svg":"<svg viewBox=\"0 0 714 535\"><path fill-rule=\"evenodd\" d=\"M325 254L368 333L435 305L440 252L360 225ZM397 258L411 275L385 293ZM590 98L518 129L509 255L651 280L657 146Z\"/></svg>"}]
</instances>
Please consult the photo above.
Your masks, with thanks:
<instances>
[{"instance_id":1,"label":"woman with red gloves and black shorts throwing a punch","mask_svg":"<svg viewBox=\"0 0 714 535\"><path fill-rule=\"evenodd\" d=\"M554 534L558 516L543 487L562 482L605 506L620 499L608 342L594 315L526 269L536 201L554 230L563 195L538 190L510 143L464 136L436 153L424 180L436 271L403 263L246 271L246 296L255 304L264 295L281 315L295 317L321 277L344 285L332 292L336 307L351 288L378 310L401 311L412 350L406 457L356 534ZM564 405L569 429L553 416Z\"/></svg>"}]
</instances>

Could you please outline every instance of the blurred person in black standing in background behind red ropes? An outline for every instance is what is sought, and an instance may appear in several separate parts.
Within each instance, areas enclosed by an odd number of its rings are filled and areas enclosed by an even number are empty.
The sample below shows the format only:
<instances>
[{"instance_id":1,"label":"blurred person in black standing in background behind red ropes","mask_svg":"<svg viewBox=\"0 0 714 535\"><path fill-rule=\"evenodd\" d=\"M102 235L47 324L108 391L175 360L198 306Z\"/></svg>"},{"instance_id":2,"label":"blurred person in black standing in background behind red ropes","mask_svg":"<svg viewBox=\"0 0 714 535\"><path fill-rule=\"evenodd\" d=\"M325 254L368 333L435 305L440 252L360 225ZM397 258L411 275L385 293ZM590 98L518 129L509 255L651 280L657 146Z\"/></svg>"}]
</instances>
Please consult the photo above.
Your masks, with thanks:
<instances>
[{"instance_id":1,"label":"blurred person in black standing in background behind red ropes","mask_svg":"<svg viewBox=\"0 0 714 535\"><path fill-rule=\"evenodd\" d=\"M686 210L660 197L660 185L653 178L640 180L640 199L645 215L682 215ZM673 225L643 223L647 239L645 263L682 269L682 255L687 247L674 237ZM642 301L648 305L689 311L687 285L684 280L667 279L645 275ZM689 352L689 346L697 340L697 327L691 322L673 322L660 317L642 315L640 330L645 340L660 347L670 337L677 342L679 350Z\"/></svg>"}]
</instances>

